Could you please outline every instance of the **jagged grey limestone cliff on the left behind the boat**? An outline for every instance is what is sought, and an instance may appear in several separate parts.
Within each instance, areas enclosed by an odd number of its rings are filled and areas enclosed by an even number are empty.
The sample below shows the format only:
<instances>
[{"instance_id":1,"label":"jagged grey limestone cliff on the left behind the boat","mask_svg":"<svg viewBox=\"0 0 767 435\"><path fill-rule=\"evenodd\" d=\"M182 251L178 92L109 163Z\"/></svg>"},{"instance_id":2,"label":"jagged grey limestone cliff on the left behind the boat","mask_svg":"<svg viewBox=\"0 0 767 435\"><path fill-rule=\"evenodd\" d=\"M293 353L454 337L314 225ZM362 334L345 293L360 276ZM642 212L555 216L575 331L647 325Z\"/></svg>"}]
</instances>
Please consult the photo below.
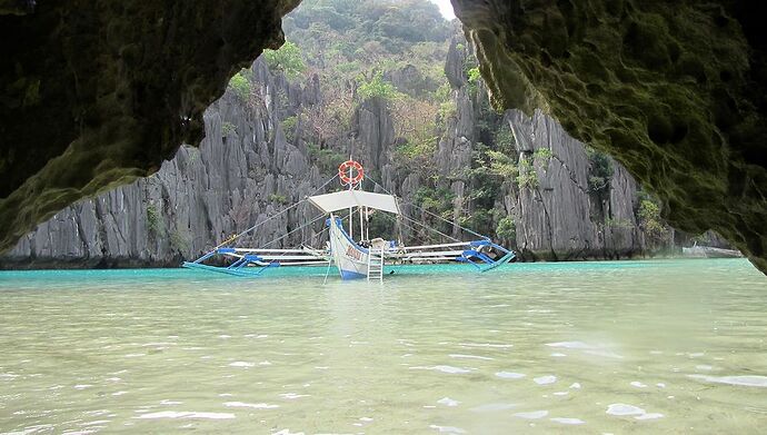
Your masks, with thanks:
<instances>
[{"instance_id":1,"label":"jagged grey limestone cliff on the left behind the boat","mask_svg":"<svg viewBox=\"0 0 767 435\"><path fill-rule=\"evenodd\" d=\"M199 149L183 146L153 176L58 212L24 236L2 263L178 266L181 258L195 257L317 191L325 179L308 165L306 150L287 141L279 118L319 100L313 80L306 88L291 86L272 77L262 61L253 63L251 77L247 101L228 91L206 111ZM317 215L302 204L243 243L263 245ZM272 246L316 241L321 224Z\"/></svg>"}]
</instances>

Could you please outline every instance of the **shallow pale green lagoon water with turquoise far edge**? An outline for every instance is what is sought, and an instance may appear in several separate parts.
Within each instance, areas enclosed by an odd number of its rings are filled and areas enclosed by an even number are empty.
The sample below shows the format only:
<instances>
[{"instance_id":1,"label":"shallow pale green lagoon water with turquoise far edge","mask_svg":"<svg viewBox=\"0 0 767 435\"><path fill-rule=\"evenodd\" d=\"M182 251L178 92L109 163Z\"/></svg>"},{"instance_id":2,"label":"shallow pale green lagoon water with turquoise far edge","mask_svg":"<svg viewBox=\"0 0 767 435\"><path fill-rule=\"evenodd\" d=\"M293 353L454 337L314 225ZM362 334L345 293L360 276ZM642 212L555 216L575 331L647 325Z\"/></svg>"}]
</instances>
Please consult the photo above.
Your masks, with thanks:
<instances>
[{"instance_id":1,"label":"shallow pale green lagoon water with turquoise far edge","mask_svg":"<svg viewBox=\"0 0 767 435\"><path fill-rule=\"evenodd\" d=\"M273 271L0 273L0 433L767 424L767 279L746 260Z\"/></svg>"}]
</instances>

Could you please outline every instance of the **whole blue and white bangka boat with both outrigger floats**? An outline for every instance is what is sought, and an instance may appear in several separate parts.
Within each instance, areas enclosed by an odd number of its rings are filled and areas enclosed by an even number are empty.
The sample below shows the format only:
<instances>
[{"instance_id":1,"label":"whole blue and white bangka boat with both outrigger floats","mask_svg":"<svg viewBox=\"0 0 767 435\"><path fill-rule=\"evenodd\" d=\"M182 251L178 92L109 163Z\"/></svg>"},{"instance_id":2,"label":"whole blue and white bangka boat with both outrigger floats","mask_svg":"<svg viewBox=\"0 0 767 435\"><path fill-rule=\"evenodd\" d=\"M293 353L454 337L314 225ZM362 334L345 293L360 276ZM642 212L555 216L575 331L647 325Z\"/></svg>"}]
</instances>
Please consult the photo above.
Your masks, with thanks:
<instances>
[{"instance_id":1,"label":"whole blue and white bangka boat with both outrigger floats","mask_svg":"<svg viewBox=\"0 0 767 435\"><path fill-rule=\"evenodd\" d=\"M318 191L322 190L336 178L340 179L341 185L345 187L343 190L332 194L309 196L285 208L277 215L232 236L200 258L193 261L185 261L182 266L190 269L235 276L259 276L273 267L325 265L329 270L330 266L335 265L341 279L382 280L385 268L399 265L454 263L469 265L477 271L487 271L507 264L515 258L514 251L492 243L489 237L464 228L415 204L408 204L408 206L435 219L442 220L451 226L460 228L476 238L464 241L406 216L402 212L397 197L375 181L372 181L373 185L381 191L387 191L387 194L362 190L365 171L362 166L355 160L348 160L341 164L338 168L338 175L322 185ZM370 179L368 178L368 180ZM321 214L317 218L271 240L260 248L237 247L237 240L242 236L255 231L267 221L283 215L303 201L309 201L318 208ZM346 214L343 211L346 211ZM370 238L369 220L371 215L377 211L382 211L389 217L394 216L394 219L400 225L400 228L404 226L415 229L410 224L418 225L439 234L440 237L449 241L437 245L406 246L401 240L401 235L399 240L381 237ZM315 248L303 243L291 248L270 247L285 239L290 234L319 223L322 218L325 218L326 226L321 233L328 231L328 241L325 247ZM346 229L343 228L343 220L347 220ZM355 223L355 220L358 223ZM359 231L357 234L355 231L356 224L358 224L357 229ZM356 236L357 238L355 238ZM217 265L228 265L217 266L206 264L206 261L216 263Z\"/></svg>"}]
</instances>

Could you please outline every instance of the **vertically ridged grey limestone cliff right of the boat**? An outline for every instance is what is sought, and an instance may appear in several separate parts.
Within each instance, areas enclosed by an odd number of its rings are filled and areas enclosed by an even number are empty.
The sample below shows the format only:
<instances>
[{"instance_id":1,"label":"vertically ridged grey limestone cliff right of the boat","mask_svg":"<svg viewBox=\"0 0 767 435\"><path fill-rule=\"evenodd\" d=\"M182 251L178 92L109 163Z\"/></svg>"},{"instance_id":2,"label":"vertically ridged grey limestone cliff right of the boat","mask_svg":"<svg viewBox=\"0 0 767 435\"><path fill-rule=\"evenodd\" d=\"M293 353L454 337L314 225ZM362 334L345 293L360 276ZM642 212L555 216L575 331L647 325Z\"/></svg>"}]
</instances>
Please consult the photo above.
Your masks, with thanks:
<instances>
[{"instance_id":1,"label":"vertically ridged grey limestone cliff right of the boat","mask_svg":"<svg viewBox=\"0 0 767 435\"><path fill-rule=\"evenodd\" d=\"M532 160L538 179L521 187L516 198L509 192L522 255L555 260L619 258L643 249L634 214L637 185L622 166L612 162L608 194L600 198L588 184L591 164L584 144L539 110L531 118L516 110L506 118L519 159Z\"/></svg>"}]
</instances>

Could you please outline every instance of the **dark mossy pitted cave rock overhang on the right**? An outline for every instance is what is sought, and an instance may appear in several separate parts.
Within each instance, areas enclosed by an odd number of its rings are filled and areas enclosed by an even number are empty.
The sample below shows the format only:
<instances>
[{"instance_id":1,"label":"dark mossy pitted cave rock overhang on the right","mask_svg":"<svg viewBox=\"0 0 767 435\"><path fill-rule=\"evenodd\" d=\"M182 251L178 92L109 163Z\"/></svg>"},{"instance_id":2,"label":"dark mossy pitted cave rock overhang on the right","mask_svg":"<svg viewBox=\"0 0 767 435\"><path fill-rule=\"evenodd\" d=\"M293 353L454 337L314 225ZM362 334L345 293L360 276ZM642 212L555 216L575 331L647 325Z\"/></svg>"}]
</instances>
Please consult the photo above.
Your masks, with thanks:
<instances>
[{"instance_id":1,"label":"dark mossy pitted cave rock overhang on the right","mask_svg":"<svg viewBox=\"0 0 767 435\"><path fill-rule=\"evenodd\" d=\"M544 108L767 273L764 6L452 0L504 108Z\"/></svg>"}]
</instances>

